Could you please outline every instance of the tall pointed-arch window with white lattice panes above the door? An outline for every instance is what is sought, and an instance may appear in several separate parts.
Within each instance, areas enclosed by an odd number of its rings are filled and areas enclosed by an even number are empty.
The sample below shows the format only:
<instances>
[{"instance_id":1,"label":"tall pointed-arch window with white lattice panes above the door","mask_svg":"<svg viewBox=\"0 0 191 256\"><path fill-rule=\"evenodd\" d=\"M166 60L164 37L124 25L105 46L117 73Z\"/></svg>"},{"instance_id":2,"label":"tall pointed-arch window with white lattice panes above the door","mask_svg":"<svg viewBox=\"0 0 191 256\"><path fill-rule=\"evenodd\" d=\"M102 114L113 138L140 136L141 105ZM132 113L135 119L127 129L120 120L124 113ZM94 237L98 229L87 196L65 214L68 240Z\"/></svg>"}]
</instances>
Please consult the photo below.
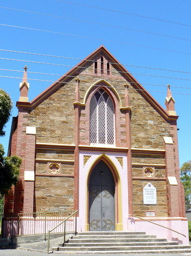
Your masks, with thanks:
<instances>
[{"instance_id":1,"label":"tall pointed-arch window with white lattice panes above the door","mask_svg":"<svg viewBox=\"0 0 191 256\"><path fill-rule=\"evenodd\" d=\"M90 101L90 143L114 145L114 105L102 88Z\"/></svg>"}]
</instances>

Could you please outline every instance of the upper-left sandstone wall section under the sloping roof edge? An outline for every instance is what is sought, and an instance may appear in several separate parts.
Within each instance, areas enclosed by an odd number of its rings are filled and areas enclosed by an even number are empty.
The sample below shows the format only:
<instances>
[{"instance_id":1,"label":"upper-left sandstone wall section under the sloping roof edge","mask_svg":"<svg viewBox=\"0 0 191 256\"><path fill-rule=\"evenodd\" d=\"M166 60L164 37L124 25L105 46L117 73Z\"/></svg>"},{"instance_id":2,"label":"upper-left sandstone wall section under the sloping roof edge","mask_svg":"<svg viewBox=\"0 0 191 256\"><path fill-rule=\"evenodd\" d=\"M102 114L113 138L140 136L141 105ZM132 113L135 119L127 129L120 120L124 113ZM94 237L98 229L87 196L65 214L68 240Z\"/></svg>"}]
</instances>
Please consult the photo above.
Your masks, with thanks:
<instances>
[{"instance_id":1,"label":"upper-left sandstone wall section under the sloping roof edge","mask_svg":"<svg viewBox=\"0 0 191 256\"><path fill-rule=\"evenodd\" d=\"M74 144L75 80L40 103L28 116L37 143Z\"/></svg>"}]
</instances>

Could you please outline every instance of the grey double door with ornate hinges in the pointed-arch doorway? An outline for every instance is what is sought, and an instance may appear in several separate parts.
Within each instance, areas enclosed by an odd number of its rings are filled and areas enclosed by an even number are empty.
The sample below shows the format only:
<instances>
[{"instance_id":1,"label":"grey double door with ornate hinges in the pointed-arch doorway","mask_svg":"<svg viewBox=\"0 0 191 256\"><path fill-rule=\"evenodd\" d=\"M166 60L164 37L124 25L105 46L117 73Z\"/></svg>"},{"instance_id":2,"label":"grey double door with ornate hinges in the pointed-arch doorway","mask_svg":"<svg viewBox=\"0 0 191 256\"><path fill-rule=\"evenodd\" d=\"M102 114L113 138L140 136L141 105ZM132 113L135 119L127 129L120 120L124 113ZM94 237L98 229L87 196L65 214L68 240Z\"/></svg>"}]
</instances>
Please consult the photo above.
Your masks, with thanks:
<instances>
[{"instance_id":1,"label":"grey double door with ornate hinges in the pointed-arch doorway","mask_svg":"<svg viewBox=\"0 0 191 256\"><path fill-rule=\"evenodd\" d=\"M115 182L104 161L94 166L89 178L89 230L115 230Z\"/></svg>"}]
</instances>

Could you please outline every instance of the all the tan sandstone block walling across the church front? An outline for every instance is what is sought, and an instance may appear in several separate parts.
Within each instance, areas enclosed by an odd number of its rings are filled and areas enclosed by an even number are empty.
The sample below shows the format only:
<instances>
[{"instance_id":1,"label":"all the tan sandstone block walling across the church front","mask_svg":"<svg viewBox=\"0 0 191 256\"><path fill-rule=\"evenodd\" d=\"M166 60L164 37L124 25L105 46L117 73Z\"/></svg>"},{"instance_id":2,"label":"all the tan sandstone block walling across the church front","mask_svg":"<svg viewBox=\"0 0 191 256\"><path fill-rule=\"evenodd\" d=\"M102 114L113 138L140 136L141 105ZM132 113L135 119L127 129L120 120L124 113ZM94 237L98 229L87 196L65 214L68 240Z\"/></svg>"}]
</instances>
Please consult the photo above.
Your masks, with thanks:
<instances>
[{"instance_id":1,"label":"all the tan sandstone block walling across the church front","mask_svg":"<svg viewBox=\"0 0 191 256\"><path fill-rule=\"evenodd\" d=\"M75 75L75 74L74 74ZM163 136L171 134L171 123L148 103L144 97L136 91L130 81L124 75L116 72L110 65L110 74L94 73L94 64L87 64L86 69L79 70L76 75L80 78L80 102L83 103L88 88L98 80L106 80L117 92L121 99L122 107L125 107L125 84L129 84L129 97L131 107L131 143L132 148L164 149ZM106 85L109 87L108 85ZM36 142L49 144L74 144L74 101L75 78L51 96L47 97L34 110L26 115L25 126L36 127ZM115 92L107 88L111 96ZM126 147L126 117L125 111L120 110L120 104L115 101L115 146ZM80 144L89 145L89 108L81 107L80 113ZM74 152L60 150L36 150L36 178L35 178L35 207L37 211L73 209L74 204L74 164L63 163L65 160L74 160ZM43 159L40 160L40 159ZM46 160L46 161L45 161ZM49 173L51 160L60 165L60 172L52 175ZM53 162L55 162L53 161ZM164 156L146 154L133 155L133 163L164 165ZM155 176L149 180L157 189L157 205L143 205L142 188L148 183L142 180L142 167L133 166L133 202L134 213L145 216L146 210L156 211L157 216L166 216L166 184L165 169L155 167ZM69 175L69 176L67 176Z\"/></svg>"}]
</instances>

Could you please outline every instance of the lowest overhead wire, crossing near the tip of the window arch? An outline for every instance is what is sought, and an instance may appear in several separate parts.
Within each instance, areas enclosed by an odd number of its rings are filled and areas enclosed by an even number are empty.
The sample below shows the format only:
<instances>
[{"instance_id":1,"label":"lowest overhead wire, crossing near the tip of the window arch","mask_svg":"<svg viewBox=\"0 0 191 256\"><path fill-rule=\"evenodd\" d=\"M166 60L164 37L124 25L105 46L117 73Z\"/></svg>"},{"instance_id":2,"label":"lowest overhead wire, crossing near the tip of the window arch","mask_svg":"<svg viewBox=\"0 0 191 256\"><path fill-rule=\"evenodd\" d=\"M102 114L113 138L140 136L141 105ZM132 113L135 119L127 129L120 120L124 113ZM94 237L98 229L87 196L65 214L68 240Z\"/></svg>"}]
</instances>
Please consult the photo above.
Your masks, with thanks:
<instances>
[{"instance_id":1,"label":"lowest overhead wire, crossing near the tip of the window arch","mask_svg":"<svg viewBox=\"0 0 191 256\"><path fill-rule=\"evenodd\" d=\"M17 79L22 79L22 77L15 77L15 76L4 76L0 75L0 77L6 77L6 78L17 78ZM41 81L41 82L53 82L56 83L58 81L50 81L50 80L41 80L41 79L34 79L34 78L28 78L28 80L33 80L33 81ZM75 85L75 83L70 83L70 82L58 82L59 84L69 84L69 85ZM89 84L83 84L89 86ZM100 87L100 85L93 85L94 87ZM110 86L104 86L106 88L111 88ZM125 88L117 88L121 90L125 90ZM146 89L135 89L135 88L128 88L128 90L135 90L135 91L146 91L146 92L161 92L161 93L166 93L166 91L154 91L154 90L146 90ZM181 94L181 95L191 95L189 93L179 93L179 92L173 92L173 94Z\"/></svg>"}]
</instances>

